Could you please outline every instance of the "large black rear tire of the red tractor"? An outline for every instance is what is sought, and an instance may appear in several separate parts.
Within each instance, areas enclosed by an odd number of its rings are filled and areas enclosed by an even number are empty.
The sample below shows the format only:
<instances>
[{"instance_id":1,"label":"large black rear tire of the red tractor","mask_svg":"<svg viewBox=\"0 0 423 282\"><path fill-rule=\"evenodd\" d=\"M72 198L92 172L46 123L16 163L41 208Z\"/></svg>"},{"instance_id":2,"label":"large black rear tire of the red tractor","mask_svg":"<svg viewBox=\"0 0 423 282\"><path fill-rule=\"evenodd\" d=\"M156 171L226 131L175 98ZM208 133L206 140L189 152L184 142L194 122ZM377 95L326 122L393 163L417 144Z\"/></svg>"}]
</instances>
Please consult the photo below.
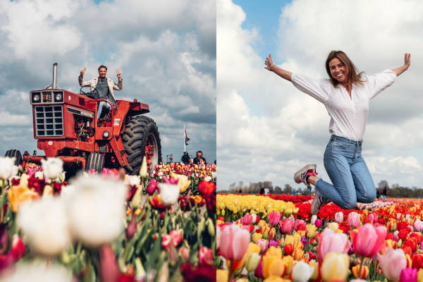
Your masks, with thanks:
<instances>
[{"instance_id":1,"label":"large black rear tire of the red tractor","mask_svg":"<svg viewBox=\"0 0 423 282\"><path fill-rule=\"evenodd\" d=\"M123 147L130 166L130 174L140 173L142 159L147 158L149 169L161 162L161 144L156 123L147 116L136 116L128 121L122 134Z\"/></svg>"}]
</instances>

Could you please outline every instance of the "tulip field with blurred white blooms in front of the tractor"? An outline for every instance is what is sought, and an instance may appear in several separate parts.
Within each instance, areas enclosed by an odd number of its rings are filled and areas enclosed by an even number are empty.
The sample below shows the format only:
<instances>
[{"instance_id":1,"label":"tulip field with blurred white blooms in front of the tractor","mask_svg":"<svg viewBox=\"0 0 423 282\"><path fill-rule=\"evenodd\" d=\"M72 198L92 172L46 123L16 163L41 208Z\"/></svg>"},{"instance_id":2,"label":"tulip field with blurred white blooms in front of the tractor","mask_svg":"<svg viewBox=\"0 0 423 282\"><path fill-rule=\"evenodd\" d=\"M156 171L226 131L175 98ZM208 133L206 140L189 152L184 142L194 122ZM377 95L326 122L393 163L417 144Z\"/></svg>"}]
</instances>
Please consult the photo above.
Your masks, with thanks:
<instances>
[{"instance_id":1,"label":"tulip field with blurred white blooms in front of the tractor","mask_svg":"<svg viewBox=\"0 0 423 282\"><path fill-rule=\"evenodd\" d=\"M0 157L0 281L215 281L216 166L69 182L61 159Z\"/></svg>"}]
</instances>

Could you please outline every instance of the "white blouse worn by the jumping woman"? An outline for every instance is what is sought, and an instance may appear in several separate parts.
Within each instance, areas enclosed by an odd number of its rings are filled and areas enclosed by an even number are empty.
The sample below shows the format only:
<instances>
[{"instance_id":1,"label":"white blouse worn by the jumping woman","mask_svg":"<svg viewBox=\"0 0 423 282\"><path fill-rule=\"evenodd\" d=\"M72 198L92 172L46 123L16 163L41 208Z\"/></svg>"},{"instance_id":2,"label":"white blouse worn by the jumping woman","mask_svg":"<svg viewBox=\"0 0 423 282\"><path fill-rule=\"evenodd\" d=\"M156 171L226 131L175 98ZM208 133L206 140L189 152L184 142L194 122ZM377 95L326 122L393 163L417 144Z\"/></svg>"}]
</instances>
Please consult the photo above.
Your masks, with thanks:
<instances>
[{"instance_id":1,"label":"white blouse worn by the jumping woman","mask_svg":"<svg viewBox=\"0 0 423 282\"><path fill-rule=\"evenodd\" d=\"M369 113L369 101L396 80L396 73L385 70L376 75L361 76L363 85L353 85L351 97L343 85L334 87L329 79L312 79L294 73L291 77L298 90L322 102L331 121L329 133L360 141L363 139Z\"/></svg>"}]
</instances>

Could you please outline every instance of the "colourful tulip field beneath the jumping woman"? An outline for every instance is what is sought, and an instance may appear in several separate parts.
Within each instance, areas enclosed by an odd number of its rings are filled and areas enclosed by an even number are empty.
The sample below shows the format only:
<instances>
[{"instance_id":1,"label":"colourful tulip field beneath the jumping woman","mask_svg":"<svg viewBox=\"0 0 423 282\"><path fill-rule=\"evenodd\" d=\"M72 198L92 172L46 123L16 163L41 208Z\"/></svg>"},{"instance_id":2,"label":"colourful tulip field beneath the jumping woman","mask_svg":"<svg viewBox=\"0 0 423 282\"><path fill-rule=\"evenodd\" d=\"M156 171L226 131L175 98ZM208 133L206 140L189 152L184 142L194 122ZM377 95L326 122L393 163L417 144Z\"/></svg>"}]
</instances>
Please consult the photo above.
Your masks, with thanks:
<instances>
[{"instance_id":1,"label":"colourful tulip field beneath the jumping woman","mask_svg":"<svg viewBox=\"0 0 423 282\"><path fill-rule=\"evenodd\" d=\"M423 281L423 200L330 203L312 216L311 196L216 197L219 282Z\"/></svg>"}]
</instances>

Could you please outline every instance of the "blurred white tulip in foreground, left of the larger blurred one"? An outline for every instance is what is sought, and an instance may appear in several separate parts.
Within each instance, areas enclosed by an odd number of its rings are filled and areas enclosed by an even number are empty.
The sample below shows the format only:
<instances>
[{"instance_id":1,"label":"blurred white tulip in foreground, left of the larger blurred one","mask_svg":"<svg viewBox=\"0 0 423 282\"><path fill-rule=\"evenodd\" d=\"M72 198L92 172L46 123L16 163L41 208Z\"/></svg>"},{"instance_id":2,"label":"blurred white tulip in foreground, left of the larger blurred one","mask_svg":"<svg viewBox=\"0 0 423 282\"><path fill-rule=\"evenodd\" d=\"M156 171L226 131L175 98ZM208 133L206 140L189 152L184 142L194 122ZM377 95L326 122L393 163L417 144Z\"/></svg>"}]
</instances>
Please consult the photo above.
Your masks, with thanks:
<instances>
[{"instance_id":1,"label":"blurred white tulip in foreground, left of the larger blurred one","mask_svg":"<svg viewBox=\"0 0 423 282\"><path fill-rule=\"evenodd\" d=\"M21 203L17 223L31 250L41 255L58 255L71 244L66 207L60 198Z\"/></svg>"}]
</instances>

